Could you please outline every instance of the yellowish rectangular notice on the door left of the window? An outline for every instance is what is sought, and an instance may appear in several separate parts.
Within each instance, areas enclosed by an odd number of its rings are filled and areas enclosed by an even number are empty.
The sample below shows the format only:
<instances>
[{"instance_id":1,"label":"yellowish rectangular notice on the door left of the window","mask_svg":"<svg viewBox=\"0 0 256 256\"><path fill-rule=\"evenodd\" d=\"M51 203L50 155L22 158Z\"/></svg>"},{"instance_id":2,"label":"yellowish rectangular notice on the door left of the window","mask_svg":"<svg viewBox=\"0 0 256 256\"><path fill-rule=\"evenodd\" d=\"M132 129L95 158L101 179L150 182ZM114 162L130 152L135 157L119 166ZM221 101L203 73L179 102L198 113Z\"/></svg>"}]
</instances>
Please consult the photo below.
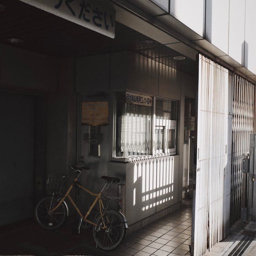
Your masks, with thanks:
<instances>
[{"instance_id":1,"label":"yellowish rectangular notice on the door left of the window","mask_svg":"<svg viewBox=\"0 0 256 256\"><path fill-rule=\"evenodd\" d=\"M108 125L108 101L82 102L82 125Z\"/></svg>"}]
</instances>

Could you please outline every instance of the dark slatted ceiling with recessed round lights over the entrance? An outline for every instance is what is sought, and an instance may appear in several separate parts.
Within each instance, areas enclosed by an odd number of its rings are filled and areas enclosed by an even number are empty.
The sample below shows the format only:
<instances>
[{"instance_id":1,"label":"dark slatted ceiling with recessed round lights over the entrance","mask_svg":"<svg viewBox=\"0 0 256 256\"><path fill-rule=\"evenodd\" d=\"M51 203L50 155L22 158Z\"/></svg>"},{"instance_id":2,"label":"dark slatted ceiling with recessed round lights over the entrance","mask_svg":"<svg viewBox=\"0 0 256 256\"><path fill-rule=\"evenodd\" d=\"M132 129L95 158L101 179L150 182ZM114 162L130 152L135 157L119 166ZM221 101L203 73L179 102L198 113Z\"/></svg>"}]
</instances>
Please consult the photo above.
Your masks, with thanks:
<instances>
[{"instance_id":1,"label":"dark slatted ceiling with recessed round lights over the entrance","mask_svg":"<svg viewBox=\"0 0 256 256\"><path fill-rule=\"evenodd\" d=\"M173 57L180 53L160 43L141 45L140 41L150 38L121 23L117 22L115 39L111 39L18 0L0 0L0 4L5 6L5 11L0 12L0 43L10 44L7 38L19 38L24 42L13 46L55 57L129 50L192 76L196 74L195 61L189 58L174 60Z\"/></svg>"}]
</instances>

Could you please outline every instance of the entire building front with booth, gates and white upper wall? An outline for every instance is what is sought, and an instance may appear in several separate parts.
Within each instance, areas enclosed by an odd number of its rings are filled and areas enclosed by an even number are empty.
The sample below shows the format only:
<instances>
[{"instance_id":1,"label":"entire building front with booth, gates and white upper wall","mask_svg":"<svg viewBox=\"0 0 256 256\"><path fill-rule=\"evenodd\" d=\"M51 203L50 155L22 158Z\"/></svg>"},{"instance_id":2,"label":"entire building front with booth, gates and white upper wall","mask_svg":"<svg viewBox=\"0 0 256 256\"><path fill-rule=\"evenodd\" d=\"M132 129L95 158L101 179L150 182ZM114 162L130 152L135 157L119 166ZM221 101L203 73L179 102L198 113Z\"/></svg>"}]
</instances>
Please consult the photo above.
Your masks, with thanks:
<instances>
[{"instance_id":1,"label":"entire building front with booth, gates and white upper wall","mask_svg":"<svg viewBox=\"0 0 256 256\"><path fill-rule=\"evenodd\" d=\"M0 8L0 224L32 217L47 175L76 163L91 190L126 184L131 230L193 199L192 250L210 250L243 204L256 1L51 2Z\"/></svg>"}]
</instances>

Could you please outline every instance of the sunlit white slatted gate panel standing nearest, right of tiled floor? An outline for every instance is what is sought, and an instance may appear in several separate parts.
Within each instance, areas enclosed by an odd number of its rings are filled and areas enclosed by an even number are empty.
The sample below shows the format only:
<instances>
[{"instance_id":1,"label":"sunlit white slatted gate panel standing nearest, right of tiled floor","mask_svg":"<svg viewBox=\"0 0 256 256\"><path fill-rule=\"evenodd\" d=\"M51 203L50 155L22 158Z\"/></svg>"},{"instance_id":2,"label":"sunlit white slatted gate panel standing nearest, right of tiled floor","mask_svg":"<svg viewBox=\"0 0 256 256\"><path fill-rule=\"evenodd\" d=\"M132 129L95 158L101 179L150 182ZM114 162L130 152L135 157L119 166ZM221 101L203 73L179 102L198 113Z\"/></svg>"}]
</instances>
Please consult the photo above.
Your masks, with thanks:
<instances>
[{"instance_id":1,"label":"sunlit white slatted gate panel standing nearest, right of tiled floor","mask_svg":"<svg viewBox=\"0 0 256 256\"><path fill-rule=\"evenodd\" d=\"M226 236L229 225L230 95L228 70L199 55L197 173L193 217L194 255Z\"/></svg>"}]
</instances>

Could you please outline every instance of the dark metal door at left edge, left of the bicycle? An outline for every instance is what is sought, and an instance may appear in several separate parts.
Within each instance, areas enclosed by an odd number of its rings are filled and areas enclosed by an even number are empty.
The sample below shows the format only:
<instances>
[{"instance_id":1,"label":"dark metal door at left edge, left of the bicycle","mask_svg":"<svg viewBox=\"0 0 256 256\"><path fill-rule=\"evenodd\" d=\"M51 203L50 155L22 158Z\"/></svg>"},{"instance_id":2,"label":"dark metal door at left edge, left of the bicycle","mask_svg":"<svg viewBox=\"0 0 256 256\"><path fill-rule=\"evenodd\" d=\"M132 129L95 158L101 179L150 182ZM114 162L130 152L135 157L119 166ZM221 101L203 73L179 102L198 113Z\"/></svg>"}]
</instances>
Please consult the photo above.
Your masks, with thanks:
<instances>
[{"instance_id":1,"label":"dark metal door at left edge, left of the bicycle","mask_svg":"<svg viewBox=\"0 0 256 256\"><path fill-rule=\"evenodd\" d=\"M0 94L0 226L33 216L34 98Z\"/></svg>"}]
</instances>

